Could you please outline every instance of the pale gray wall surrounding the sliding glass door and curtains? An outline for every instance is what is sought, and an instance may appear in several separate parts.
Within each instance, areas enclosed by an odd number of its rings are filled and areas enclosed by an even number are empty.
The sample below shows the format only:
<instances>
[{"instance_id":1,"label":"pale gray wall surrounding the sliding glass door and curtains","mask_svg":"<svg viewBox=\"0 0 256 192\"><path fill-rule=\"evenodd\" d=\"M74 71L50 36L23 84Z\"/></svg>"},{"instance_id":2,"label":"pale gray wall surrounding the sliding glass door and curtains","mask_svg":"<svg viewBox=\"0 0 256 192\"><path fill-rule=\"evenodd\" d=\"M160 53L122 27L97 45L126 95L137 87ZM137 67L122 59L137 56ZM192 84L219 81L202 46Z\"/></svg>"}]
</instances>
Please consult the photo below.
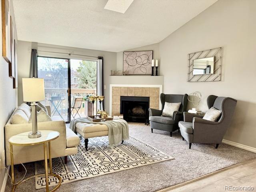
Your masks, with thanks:
<instances>
[{"instance_id":1,"label":"pale gray wall surrounding the sliding glass door and curtains","mask_svg":"<svg viewBox=\"0 0 256 192\"><path fill-rule=\"evenodd\" d=\"M66 46L56 46L50 44L42 44L42 43L34 43L34 42L25 42L18 41L18 49L19 49L19 57L18 57L18 103L21 104L23 102L22 95L22 78L29 76L30 71L30 59L31 59L31 49L37 49L39 56L50 56L50 57L58 57L58 58L72 58L72 59L90 59L97 60L97 58L84 57L84 56L68 56L68 54L58 54L58 53L48 53L42 52L51 51L51 52L64 52L64 53L73 53L80 55L88 55L88 56L102 56L104 62L104 85L106 85L106 89L104 90L104 95L106 96L105 109L109 110L109 76L111 70L116 70L116 53L115 52L106 52L106 51L98 51L98 50L89 50L82 48L73 48ZM41 50L41 51L40 51Z\"/></svg>"}]
</instances>

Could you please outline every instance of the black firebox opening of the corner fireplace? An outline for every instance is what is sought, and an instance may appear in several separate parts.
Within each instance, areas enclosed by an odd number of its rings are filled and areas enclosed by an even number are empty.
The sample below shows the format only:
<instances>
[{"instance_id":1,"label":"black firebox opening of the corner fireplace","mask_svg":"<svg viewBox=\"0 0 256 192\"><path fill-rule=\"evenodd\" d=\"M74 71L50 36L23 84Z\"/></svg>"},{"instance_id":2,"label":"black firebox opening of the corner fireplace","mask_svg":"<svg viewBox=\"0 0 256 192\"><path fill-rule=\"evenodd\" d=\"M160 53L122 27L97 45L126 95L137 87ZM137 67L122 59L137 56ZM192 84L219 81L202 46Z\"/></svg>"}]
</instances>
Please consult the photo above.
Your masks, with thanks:
<instances>
[{"instance_id":1,"label":"black firebox opening of the corner fireplace","mask_svg":"<svg viewBox=\"0 0 256 192\"><path fill-rule=\"evenodd\" d=\"M149 97L121 96L120 114L128 122L146 122L148 120Z\"/></svg>"}]
</instances>

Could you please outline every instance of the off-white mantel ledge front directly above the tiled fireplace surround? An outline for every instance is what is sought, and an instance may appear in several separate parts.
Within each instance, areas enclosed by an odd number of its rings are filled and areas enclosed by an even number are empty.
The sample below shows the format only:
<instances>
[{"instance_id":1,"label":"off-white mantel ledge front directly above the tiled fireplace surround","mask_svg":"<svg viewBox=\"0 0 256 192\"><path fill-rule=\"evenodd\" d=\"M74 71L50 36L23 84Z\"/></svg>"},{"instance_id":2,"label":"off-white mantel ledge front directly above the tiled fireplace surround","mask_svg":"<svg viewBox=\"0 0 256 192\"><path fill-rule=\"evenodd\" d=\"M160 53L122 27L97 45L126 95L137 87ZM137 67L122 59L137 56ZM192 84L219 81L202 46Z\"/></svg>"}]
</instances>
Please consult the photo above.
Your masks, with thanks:
<instances>
[{"instance_id":1,"label":"off-white mantel ledge front directly above the tiled fireplace surround","mask_svg":"<svg viewBox=\"0 0 256 192\"><path fill-rule=\"evenodd\" d=\"M142 75L109 76L109 84L164 85L164 76L142 76Z\"/></svg>"}]
</instances>

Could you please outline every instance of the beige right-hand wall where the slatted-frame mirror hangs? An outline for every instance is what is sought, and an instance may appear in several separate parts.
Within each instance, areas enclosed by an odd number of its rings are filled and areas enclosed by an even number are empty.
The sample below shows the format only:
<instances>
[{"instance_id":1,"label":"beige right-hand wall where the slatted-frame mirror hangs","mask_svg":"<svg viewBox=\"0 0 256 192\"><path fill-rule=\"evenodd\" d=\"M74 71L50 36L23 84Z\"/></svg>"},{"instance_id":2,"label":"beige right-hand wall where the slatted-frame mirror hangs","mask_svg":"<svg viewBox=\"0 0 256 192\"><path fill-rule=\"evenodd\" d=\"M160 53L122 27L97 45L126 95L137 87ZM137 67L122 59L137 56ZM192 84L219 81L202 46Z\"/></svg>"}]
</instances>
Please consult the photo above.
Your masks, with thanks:
<instances>
[{"instance_id":1,"label":"beige right-hand wall where the slatted-frame mirror hangs","mask_svg":"<svg viewBox=\"0 0 256 192\"><path fill-rule=\"evenodd\" d=\"M222 81L186 82L187 54L221 46ZM165 93L200 91L198 108L210 94L238 100L225 139L256 147L256 1L219 0L159 45ZM190 105L189 108L192 106Z\"/></svg>"}]
</instances>

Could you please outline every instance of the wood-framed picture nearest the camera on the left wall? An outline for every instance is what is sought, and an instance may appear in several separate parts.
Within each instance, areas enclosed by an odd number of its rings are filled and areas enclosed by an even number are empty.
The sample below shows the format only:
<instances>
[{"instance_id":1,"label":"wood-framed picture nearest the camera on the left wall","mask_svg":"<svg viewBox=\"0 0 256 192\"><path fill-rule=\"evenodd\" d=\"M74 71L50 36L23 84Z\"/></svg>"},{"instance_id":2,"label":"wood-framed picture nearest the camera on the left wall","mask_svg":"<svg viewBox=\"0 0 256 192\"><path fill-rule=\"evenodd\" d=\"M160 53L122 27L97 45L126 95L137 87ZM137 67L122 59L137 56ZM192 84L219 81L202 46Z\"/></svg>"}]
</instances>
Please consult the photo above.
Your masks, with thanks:
<instances>
[{"instance_id":1,"label":"wood-framed picture nearest the camera on the left wall","mask_svg":"<svg viewBox=\"0 0 256 192\"><path fill-rule=\"evenodd\" d=\"M2 52L7 62L12 62L10 1L2 0Z\"/></svg>"}]
</instances>

